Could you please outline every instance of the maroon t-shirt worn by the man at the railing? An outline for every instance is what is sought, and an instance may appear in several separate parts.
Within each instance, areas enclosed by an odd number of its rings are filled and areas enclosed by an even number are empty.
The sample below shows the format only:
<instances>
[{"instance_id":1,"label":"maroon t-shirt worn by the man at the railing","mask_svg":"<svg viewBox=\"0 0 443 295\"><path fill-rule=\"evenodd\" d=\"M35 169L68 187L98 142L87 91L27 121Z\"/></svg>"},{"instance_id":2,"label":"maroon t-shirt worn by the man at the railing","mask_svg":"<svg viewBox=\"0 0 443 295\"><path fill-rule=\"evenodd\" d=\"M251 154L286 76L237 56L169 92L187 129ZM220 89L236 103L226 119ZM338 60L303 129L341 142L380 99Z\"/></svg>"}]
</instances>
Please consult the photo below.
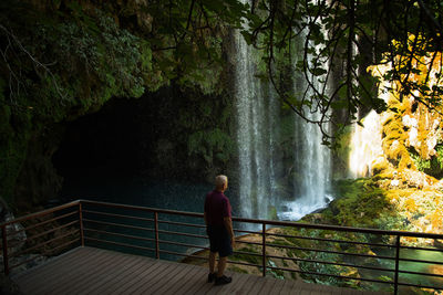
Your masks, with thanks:
<instances>
[{"instance_id":1,"label":"maroon t-shirt worn by the man at the railing","mask_svg":"<svg viewBox=\"0 0 443 295\"><path fill-rule=\"evenodd\" d=\"M231 217L229 199L217 190L208 192L205 199L205 212L209 225L223 225L224 218Z\"/></svg>"}]
</instances>

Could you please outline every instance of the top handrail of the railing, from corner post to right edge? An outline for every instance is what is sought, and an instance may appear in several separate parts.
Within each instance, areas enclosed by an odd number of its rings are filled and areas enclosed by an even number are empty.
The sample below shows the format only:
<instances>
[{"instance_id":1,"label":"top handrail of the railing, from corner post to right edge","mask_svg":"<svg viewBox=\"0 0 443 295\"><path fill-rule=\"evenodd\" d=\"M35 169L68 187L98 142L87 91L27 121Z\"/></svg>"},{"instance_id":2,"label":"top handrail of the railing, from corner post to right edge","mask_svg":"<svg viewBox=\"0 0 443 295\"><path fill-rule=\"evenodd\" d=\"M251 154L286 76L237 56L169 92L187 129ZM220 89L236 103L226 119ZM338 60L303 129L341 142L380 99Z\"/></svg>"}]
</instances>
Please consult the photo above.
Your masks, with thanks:
<instances>
[{"instance_id":1,"label":"top handrail of the railing, from corner post to right edge","mask_svg":"<svg viewBox=\"0 0 443 295\"><path fill-rule=\"evenodd\" d=\"M203 218L203 213L197 212L187 212L187 211L178 211L178 210L169 210L169 209L157 209L142 206L132 206L132 204L117 204L111 202L103 201L91 201L91 200L76 200L75 202L90 203L90 204L99 204L105 207L113 208L123 208L123 209L135 209L140 211L146 212L158 212L174 215L185 215L185 217L195 217ZM423 238L423 239L439 239L443 240L443 234L439 233L422 233L422 232L409 232L409 231L389 231L389 230L379 230L379 229L367 229L367 228L352 228L352 226L340 226L340 225L331 225L331 224L311 224L311 223L301 223L295 221L275 221L275 220L262 220L262 219L248 219L248 218L238 218L233 217L233 221L255 223L255 224L266 224L266 225L281 225L281 226L297 226L305 229L315 229L315 230L332 230L332 231L341 231L341 232L360 232L360 233L373 233L381 235L401 235L401 236L412 236L412 238Z\"/></svg>"}]
</instances>

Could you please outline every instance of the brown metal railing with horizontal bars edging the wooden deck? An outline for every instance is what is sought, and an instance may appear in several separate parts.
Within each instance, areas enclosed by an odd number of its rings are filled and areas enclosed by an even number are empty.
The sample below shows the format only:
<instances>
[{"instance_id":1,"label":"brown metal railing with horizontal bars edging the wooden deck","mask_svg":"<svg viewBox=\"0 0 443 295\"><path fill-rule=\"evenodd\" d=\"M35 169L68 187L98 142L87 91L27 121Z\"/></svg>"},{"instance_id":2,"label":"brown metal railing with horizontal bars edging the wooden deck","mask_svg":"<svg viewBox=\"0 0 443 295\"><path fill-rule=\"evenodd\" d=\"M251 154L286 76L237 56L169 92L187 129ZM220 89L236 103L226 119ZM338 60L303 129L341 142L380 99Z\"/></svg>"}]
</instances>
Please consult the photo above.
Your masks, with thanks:
<instances>
[{"instance_id":1,"label":"brown metal railing with horizontal bars edging the wooden deck","mask_svg":"<svg viewBox=\"0 0 443 295\"><path fill-rule=\"evenodd\" d=\"M83 221L84 222L91 222L92 220L83 218L83 214L82 214L82 211L83 211L82 206L83 204L91 204L91 206L97 206L97 207L107 207L107 208L125 209L125 210L133 210L133 211L135 210L135 211L143 211L143 212L154 213L154 219L143 219L143 220L154 222L154 229L150 229L151 231L154 231L154 239L144 239L144 240L146 240L146 241L148 240L148 241L155 242L155 249L145 247L145 246L138 246L138 245L128 245L126 243L120 243L120 242L116 242L116 241L106 241L106 240L102 241L100 239L94 239L92 236L84 236L84 231L90 231L90 229L85 229L83 226ZM181 215L181 217L192 217L192 218L198 218L198 219L203 219L204 218L203 213L168 210L168 209L158 209L158 208L148 208L148 207L142 207L142 206L132 206L132 204L119 204L119 203L111 203L111 202L103 202L103 201L92 201L92 200L79 199L79 200L75 200L75 201L72 201L72 202L69 202L69 203L65 203L65 204L56 206L54 208L50 208L50 209L42 210L42 211L39 211L39 212L35 212L35 213L27 214L24 217L16 218L13 220L10 220L10 221L7 221L7 222L3 222L3 223L0 224L0 229L2 231L2 238L1 239L2 239L2 244L3 244L2 251L3 251L3 257L4 257L3 259L3 266L4 266L3 268L4 268L4 272L6 272L7 275L9 274L9 270L10 268L13 268L13 267L20 265L20 264L17 264L17 265L13 265L13 266L9 267L8 256L10 256L10 255L8 253L8 236L7 235L9 235L10 233L8 233L7 226L12 224L12 223L22 222L22 221L25 221L25 220L29 220L29 219L33 219L33 218L43 217L43 215L47 215L47 214L50 214L50 213L53 213L53 212L56 212L56 211L60 211L60 210L64 210L64 209L68 209L68 208L72 208L72 207L78 207L75 212L79 213L79 220L75 221L75 222L68 223L68 224L70 225L70 224L79 222L80 229L75 230L75 232L80 231L80 238L79 239L80 239L80 242L81 242L82 246L84 245L84 240L89 239L91 241L106 242L106 243L111 243L111 244L115 244L115 245L131 246L131 247L140 249L140 250L154 251L155 257L159 259L159 253L161 252L162 253L176 254L176 255L183 255L181 253L171 252L171 251L166 251L166 250L161 250L159 249L159 243L181 244L181 245L186 245L186 246L192 246L192 245L190 244L186 244L186 243L177 243L177 242L171 242L171 241L166 241L166 240L159 240L158 233L182 234L182 235L194 236L194 238L206 238L206 236L203 236L203 235L195 235L195 234L190 234L190 233L186 234L186 233L179 233L179 232L173 232L173 231L164 231L164 230L159 230L159 228L158 228L158 224L162 223L162 222L168 223L165 220L158 219L158 214L159 213L162 213L162 214ZM85 212L90 212L90 213L97 213L97 214L101 213L100 211L91 211L91 210L84 210L84 211ZM71 217L73 214L75 214L75 213L62 214L59 218ZM130 218L130 219L134 218L134 217L125 215L125 214L113 214L113 213L105 213L105 214L106 215L115 215L115 217L120 217L120 218ZM135 219L142 219L142 218L135 217ZM323 276L351 278L351 280L360 280L360 281L368 281L368 282L375 282L375 283L392 284L392 285L394 285L394 294L398 294L399 285L403 285L403 286L404 285L420 286L420 285L406 284L406 283L400 283L399 282L399 273L414 273L414 272L401 271L400 267L399 267L399 262L400 261L415 261L415 260L405 260L405 259L400 257L400 249L403 249L403 246L401 245L401 241L400 241L401 238L403 238L403 236L413 236L413 238L421 238L421 239L442 239L443 240L443 234L437 234L437 233L389 231L389 230L378 230L378 229L339 226L339 225L330 225L330 224L309 224L309 223L301 223L301 222L293 222L293 221L258 220L258 219L247 219L247 218L237 218L237 217L234 217L233 221L246 222L246 223L253 223L253 224L261 225L261 229L259 231L250 232L250 233L255 233L255 234L261 235L261 241L260 242L253 243L253 244L257 244L257 245L261 246L261 254L257 254L257 255L261 256L261 265L248 264L248 263L243 263L243 262L234 262L234 263L262 267L261 272L262 272L264 276L266 276L267 268L269 268L269 270L282 270L282 271L290 271L290 272L300 272L300 273L312 274L312 275L316 274L316 273L307 272L307 271L297 271L297 270L289 270L289 268L285 268L285 267L268 266L267 262L266 262L267 261L267 256L269 256L269 257L276 257L276 256L268 255L266 253L266 247L267 246L271 246L272 247L272 246L278 246L278 245L277 244L275 245L272 243L269 243L269 242L267 243L266 242L266 236L274 235L272 233L268 233L267 232L267 225L285 226L285 228L292 226L292 228L302 228L302 229L311 229L311 230L327 230L327 231L336 231L336 232L358 232L358 233L367 233L367 234L395 236L395 243L394 244L385 244L387 246L393 246L395 249L395 257L381 257L381 256L378 256L380 259L391 259L391 260L395 261L395 266L394 266L393 270L382 270L382 271L389 271L389 272L393 272L394 273L394 282L392 282L392 283L391 282L383 282L383 281L380 281L380 280L368 280L368 278L362 278L362 277L353 278L353 277L348 277L348 276L342 276L342 275L317 273L317 275L323 275ZM43 224L43 223L45 223L45 221L40 222L39 224ZM102 222L102 223L106 223L106 222ZM178 224L178 225L193 225L193 224L181 223L181 222L171 222L171 223ZM109 223L109 224L111 224L111 223ZM69 225L63 225L63 226L69 226ZM134 225L130 225L130 224L124 225L124 224L121 224L121 223L115 223L113 225L135 228ZM196 225L193 225L193 226L196 226ZM202 225L199 225L197 228L204 228L204 225L202 224ZM241 231L241 230L237 230L237 231L238 232L249 232L249 231ZM47 232L49 232L49 231L47 231ZM44 232L44 234L47 232ZM16 234L16 233L17 232L13 232L12 234ZM40 236L42 234L39 234L37 236ZM70 235L70 234L71 233L68 233L66 236ZM115 234L115 233L111 233L110 232L110 234ZM121 234L121 233L117 233L117 234L121 235L121 236L124 236L124 238L131 238L131 239L134 238L134 236L127 235L127 234ZM298 239L297 236L292 236L292 238ZM58 239L60 239L60 238L58 238ZM303 239L303 238L300 238L300 239ZM312 239L316 240L316 238L312 238ZM53 240L54 239L52 239L51 241L53 241ZM336 240L329 240L329 239L320 239L320 240L337 242ZM45 243L49 243L49 242L45 242ZM70 245L73 242L75 242L75 241L70 241L68 243L59 245L58 249L62 247L64 245ZM347 242L347 241L340 241L340 242ZM241 243L251 243L251 242L241 241ZM368 244L369 245L370 243L362 243L362 244ZM40 244L35 245L34 247L38 247L38 246L40 246ZM202 247L202 246L198 246L198 245L196 245L196 247L207 249L207 247ZM404 246L404 247L410 249L410 246ZM293 247L293 249L296 249L296 247ZM421 250L425 250L423 247L420 247L420 249ZM430 249L430 250L432 250L432 249ZM313 249L313 247L309 249L309 251L331 252L331 253L346 254L346 255L367 256L365 254L341 253L341 252L326 251L326 250L319 250L319 249ZM238 252L238 253L245 254L245 252ZM193 254L190 254L190 255L186 254L184 256L198 257L198 256L195 256ZM199 259L202 259L202 257L199 257ZM280 259L284 259L284 257L280 257ZM290 257L288 257L288 259L289 260L293 260L293 259L290 259ZM300 261L302 261L302 259L300 259ZM315 260L305 260L305 261L312 261L312 262L317 262L317 263L322 263L321 261L315 261ZM427 263L427 261L420 261L420 262ZM344 264L340 264L339 262L337 262L337 265L344 265ZM344 265L344 266L363 267L361 265ZM416 274L425 275L424 273L416 273ZM440 276L440 275L437 275L437 276ZM426 286L423 286L423 287L426 287Z\"/></svg>"}]
</instances>

